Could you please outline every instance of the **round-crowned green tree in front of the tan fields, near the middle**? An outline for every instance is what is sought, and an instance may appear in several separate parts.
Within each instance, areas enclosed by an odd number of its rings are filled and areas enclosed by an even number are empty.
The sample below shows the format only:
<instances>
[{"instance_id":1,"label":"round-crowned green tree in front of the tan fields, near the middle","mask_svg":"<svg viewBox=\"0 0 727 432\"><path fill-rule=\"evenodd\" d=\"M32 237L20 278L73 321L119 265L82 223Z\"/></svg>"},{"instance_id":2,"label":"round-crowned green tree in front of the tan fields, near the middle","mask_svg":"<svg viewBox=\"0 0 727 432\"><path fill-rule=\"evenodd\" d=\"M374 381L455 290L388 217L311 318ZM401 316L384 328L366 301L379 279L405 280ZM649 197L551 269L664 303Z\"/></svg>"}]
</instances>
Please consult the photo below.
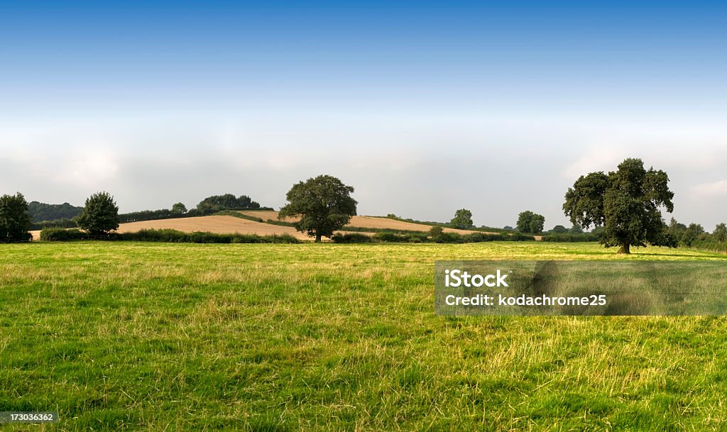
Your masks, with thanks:
<instances>
[{"instance_id":1,"label":"round-crowned green tree in front of the tan fields, near the middle","mask_svg":"<svg viewBox=\"0 0 727 432\"><path fill-rule=\"evenodd\" d=\"M356 200L351 197L353 187L343 184L334 176L321 175L298 182L288 191L288 204L280 209L278 219L299 217L295 229L316 237L331 237L351 216L356 216Z\"/></svg>"}]
</instances>

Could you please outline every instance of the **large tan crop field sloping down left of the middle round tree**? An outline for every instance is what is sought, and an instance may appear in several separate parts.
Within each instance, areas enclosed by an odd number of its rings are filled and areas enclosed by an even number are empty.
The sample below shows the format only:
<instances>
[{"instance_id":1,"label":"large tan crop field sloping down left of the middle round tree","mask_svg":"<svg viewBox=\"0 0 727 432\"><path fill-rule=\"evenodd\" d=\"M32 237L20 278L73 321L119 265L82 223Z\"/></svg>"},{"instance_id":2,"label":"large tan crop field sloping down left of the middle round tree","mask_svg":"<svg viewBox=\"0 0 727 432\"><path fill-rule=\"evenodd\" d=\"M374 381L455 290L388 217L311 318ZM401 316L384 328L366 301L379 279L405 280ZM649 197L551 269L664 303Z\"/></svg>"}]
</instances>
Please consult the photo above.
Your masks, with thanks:
<instances>
[{"instance_id":1,"label":"large tan crop field sloping down left of the middle round tree","mask_svg":"<svg viewBox=\"0 0 727 432\"><path fill-rule=\"evenodd\" d=\"M293 227L264 224L235 216L199 216L195 218L159 219L156 221L127 222L119 225L119 232L136 232L140 229L177 229L183 232L217 232L220 234L292 235L299 240L311 237L297 232ZM364 233L367 234L367 233Z\"/></svg>"}]
</instances>

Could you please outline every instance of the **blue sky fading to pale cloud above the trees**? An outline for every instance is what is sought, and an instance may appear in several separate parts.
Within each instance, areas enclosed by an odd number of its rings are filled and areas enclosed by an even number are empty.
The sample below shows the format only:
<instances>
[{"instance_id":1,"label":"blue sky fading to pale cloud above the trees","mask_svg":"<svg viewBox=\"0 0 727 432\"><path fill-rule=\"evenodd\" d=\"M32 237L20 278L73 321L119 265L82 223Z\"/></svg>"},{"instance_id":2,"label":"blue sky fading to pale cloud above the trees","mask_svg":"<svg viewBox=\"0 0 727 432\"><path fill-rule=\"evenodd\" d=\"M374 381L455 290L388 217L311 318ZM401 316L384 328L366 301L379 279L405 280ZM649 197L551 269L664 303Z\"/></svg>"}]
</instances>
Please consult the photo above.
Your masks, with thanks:
<instances>
[{"instance_id":1,"label":"blue sky fading to pale cloud above the trees","mask_svg":"<svg viewBox=\"0 0 727 432\"><path fill-rule=\"evenodd\" d=\"M1 192L122 211L284 203L566 224L579 174L640 157L675 217L727 214L727 7L640 2L28 2L0 13ZM438 204L437 204L438 203Z\"/></svg>"}]
</instances>

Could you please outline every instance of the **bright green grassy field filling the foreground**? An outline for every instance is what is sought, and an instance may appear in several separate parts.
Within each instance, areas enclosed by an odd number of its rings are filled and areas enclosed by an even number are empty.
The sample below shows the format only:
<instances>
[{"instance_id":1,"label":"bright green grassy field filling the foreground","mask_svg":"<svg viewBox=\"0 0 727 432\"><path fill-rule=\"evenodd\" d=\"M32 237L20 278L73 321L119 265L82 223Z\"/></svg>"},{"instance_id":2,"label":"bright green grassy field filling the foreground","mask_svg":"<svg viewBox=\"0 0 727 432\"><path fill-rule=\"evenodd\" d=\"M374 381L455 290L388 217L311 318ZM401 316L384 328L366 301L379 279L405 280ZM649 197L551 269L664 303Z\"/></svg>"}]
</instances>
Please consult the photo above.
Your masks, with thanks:
<instances>
[{"instance_id":1,"label":"bright green grassy field filling the foreground","mask_svg":"<svg viewBox=\"0 0 727 432\"><path fill-rule=\"evenodd\" d=\"M595 244L0 245L0 411L31 431L721 431L722 317L438 317L435 259Z\"/></svg>"}]
</instances>

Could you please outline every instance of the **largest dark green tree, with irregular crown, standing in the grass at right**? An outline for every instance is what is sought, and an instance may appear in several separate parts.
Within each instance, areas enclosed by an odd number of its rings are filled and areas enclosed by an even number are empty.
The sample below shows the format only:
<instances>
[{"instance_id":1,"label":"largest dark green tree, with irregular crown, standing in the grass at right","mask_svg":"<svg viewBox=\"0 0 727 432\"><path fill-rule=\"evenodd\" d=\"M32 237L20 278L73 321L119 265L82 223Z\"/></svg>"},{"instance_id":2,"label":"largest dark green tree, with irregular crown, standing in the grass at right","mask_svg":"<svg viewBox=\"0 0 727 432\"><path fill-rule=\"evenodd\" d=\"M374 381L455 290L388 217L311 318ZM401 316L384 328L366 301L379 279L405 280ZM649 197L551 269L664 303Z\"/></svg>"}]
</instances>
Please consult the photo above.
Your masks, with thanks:
<instances>
[{"instance_id":1,"label":"largest dark green tree, with irregular crown, standing in the grass at right","mask_svg":"<svg viewBox=\"0 0 727 432\"><path fill-rule=\"evenodd\" d=\"M664 171L643 167L640 159L626 159L616 172L603 171L580 176L566 193L563 211L583 229L603 225L601 243L618 253L630 253L630 246L669 245L659 208L674 211Z\"/></svg>"}]
</instances>

